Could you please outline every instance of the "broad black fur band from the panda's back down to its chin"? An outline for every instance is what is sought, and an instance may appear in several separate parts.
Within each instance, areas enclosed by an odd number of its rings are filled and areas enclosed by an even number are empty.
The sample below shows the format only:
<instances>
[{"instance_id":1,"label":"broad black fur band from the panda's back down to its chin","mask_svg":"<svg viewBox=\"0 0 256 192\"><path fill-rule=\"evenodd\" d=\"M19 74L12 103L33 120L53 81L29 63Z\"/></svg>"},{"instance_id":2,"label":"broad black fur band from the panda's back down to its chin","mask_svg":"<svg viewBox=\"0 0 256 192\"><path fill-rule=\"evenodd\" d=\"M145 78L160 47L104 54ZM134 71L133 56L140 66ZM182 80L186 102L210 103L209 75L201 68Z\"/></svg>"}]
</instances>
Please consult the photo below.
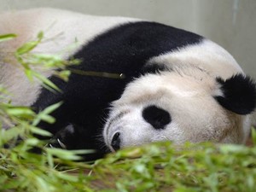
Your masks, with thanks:
<instances>
[{"instance_id":1,"label":"broad black fur band from the panda's back down to its chin","mask_svg":"<svg viewBox=\"0 0 256 192\"><path fill-rule=\"evenodd\" d=\"M86 33L86 32L84 32ZM81 59L81 71L100 73L124 73L125 79L110 79L73 73L68 83L51 77L62 94L53 94L43 89L33 108L37 110L64 101L61 108L52 113L57 119L54 125L41 124L44 129L56 133L67 124L78 125L75 148L102 150L96 137L102 134L103 117L108 113L108 104L119 99L125 85L141 73L153 73L145 67L146 62L160 54L199 44L202 37L172 26L154 22L135 22L117 26L99 35L84 46L72 58ZM154 65L154 72L160 68Z\"/></svg>"}]
</instances>

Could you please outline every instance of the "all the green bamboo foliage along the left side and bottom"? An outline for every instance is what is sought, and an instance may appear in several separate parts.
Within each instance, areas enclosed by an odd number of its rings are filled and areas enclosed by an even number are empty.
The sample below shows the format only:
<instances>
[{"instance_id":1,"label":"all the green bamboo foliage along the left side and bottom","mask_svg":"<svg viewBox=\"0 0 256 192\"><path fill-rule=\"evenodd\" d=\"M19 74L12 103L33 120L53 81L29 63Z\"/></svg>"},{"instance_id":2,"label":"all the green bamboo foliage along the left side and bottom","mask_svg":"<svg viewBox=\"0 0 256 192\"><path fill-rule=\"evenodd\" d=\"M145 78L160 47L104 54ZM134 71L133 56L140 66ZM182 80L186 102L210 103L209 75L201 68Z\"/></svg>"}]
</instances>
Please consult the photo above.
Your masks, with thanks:
<instances>
[{"instance_id":1,"label":"all the green bamboo foliage along the left side and bottom","mask_svg":"<svg viewBox=\"0 0 256 192\"><path fill-rule=\"evenodd\" d=\"M11 38L15 35L0 36L0 42ZM68 64L56 55L32 54L32 49L43 38L44 34L39 33L37 40L21 46L15 56L29 79L39 79L52 90L55 85L42 78L43 75L34 66L42 63L46 70L60 68L57 73L67 80L69 72L65 67ZM8 90L0 86L0 99L6 95ZM51 135L37 125L41 120L55 122L50 113L60 105L56 103L37 114L31 108L0 102L0 122L11 126L3 130L0 125L0 191L253 192L256 189L254 129L253 147L186 143L177 148L168 142L152 143L119 150L88 164L74 160L80 160L79 154L92 153L90 150L49 148L46 142L33 137L33 134ZM4 148L7 144L9 148ZM35 147L40 148L42 153L32 153L31 149Z\"/></svg>"}]
</instances>

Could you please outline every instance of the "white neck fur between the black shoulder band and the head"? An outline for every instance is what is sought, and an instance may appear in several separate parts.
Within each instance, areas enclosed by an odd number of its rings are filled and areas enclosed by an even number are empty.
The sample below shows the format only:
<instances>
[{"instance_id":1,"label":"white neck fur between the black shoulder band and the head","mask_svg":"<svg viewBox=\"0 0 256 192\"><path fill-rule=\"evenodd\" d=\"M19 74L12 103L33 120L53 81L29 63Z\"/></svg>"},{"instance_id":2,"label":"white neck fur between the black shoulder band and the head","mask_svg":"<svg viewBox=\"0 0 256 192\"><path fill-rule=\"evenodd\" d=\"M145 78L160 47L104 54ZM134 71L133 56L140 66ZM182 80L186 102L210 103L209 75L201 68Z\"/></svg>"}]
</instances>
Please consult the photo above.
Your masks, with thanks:
<instances>
[{"instance_id":1,"label":"white neck fur between the black shoulder band and the head","mask_svg":"<svg viewBox=\"0 0 256 192\"><path fill-rule=\"evenodd\" d=\"M191 44L164 55L156 56L148 61L165 63L168 67L194 65L206 70L213 76L230 78L233 74L242 73L241 67L225 49L208 39L201 44Z\"/></svg>"}]
</instances>

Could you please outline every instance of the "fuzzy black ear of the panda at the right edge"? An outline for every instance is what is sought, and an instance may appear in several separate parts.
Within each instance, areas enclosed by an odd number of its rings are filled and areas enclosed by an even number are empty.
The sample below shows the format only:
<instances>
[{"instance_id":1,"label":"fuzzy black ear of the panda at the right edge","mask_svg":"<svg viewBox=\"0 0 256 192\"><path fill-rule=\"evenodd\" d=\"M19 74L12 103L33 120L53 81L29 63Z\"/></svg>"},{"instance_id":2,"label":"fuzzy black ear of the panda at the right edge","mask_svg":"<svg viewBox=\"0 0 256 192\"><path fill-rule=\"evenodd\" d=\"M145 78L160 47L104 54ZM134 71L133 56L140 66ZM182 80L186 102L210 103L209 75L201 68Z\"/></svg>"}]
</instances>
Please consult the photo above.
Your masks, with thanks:
<instances>
[{"instance_id":1,"label":"fuzzy black ear of the panda at the right edge","mask_svg":"<svg viewBox=\"0 0 256 192\"><path fill-rule=\"evenodd\" d=\"M215 99L224 108L238 114L252 113L256 107L256 84L253 79L238 73L230 79L216 79L222 96Z\"/></svg>"}]
</instances>

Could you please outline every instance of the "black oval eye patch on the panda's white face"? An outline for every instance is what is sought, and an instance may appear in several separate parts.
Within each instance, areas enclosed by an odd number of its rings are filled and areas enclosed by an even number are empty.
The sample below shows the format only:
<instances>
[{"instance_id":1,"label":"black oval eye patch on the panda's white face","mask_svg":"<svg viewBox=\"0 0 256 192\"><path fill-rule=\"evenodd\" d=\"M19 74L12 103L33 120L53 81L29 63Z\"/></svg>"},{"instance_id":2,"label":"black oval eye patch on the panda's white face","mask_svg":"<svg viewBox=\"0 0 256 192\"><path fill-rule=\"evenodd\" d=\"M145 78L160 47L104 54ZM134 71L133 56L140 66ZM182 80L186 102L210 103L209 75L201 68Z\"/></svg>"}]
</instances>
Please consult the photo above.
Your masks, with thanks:
<instances>
[{"instance_id":1,"label":"black oval eye patch on the panda's white face","mask_svg":"<svg viewBox=\"0 0 256 192\"><path fill-rule=\"evenodd\" d=\"M143 119L145 119L156 130L164 129L172 120L170 113L154 105L143 109Z\"/></svg>"}]
</instances>

